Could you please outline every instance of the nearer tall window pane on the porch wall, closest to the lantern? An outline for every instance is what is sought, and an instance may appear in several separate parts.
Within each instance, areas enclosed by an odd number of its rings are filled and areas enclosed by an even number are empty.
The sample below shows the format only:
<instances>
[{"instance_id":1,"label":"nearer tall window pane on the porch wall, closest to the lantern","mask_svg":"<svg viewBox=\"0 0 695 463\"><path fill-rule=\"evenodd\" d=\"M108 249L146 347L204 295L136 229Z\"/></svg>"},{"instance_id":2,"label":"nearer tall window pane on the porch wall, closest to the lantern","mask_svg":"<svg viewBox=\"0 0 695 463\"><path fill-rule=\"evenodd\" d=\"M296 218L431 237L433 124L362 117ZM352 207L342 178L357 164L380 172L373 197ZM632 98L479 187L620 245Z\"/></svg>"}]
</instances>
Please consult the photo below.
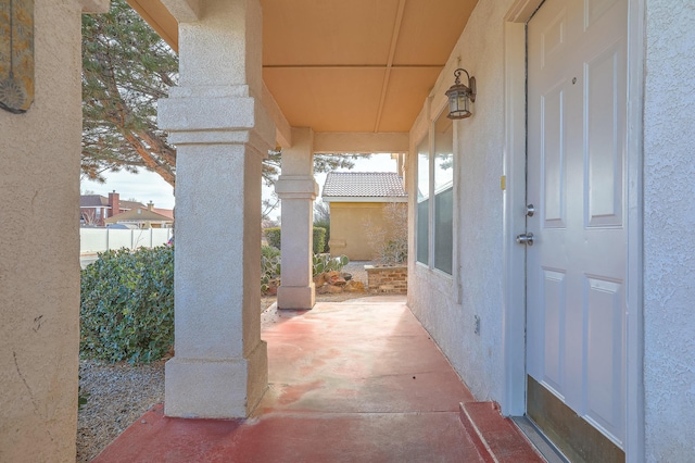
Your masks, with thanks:
<instances>
[{"instance_id":1,"label":"nearer tall window pane on the porch wall, closest to the lantern","mask_svg":"<svg viewBox=\"0 0 695 463\"><path fill-rule=\"evenodd\" d=\"M454 133L445 113L434 123L434 268L453 270Z\"/></svg>"}]
</instances>

